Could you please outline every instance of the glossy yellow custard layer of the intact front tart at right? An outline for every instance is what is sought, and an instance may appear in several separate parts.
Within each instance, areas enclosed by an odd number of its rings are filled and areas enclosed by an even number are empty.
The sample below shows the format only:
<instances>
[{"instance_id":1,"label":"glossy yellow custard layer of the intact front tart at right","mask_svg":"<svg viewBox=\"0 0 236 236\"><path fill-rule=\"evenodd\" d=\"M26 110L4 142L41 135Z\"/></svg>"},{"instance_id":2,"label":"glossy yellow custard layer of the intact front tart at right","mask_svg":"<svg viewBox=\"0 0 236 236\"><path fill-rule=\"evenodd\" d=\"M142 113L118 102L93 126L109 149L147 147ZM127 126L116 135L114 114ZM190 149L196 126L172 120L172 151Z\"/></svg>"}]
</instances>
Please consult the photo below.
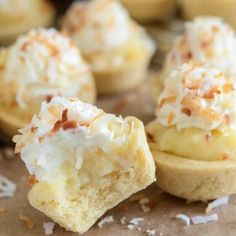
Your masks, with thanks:
<instances>
[{"instance_id":1,"label":"glossy yellow custard layer of the intact front tart at right","mask_svg":"<svg viewBox=\"0 0 236 236\"><path fill-rule=\"evenodd\" d=\"M236 130L206 131L199 128L177 130L157 120L146 127L151 142L158 150L199 161L236 159Z\"/></svg>"}]
</instances>

